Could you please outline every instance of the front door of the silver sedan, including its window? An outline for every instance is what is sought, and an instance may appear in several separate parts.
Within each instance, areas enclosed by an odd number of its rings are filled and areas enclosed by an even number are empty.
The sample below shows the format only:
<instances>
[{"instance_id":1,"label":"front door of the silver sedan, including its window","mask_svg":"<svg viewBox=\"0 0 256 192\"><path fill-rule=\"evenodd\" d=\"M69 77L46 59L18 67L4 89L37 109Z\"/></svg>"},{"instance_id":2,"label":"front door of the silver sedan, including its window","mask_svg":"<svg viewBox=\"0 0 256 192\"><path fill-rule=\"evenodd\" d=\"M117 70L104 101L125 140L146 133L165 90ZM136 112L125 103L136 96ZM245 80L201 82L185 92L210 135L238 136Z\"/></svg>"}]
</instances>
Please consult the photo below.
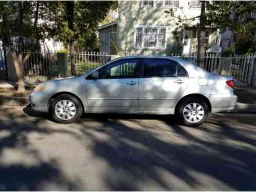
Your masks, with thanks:
<instances>
[{"instance_id":1,"label":"front door of the silver sedan, including its window","mask_svg":"<svg viewBox=\"0 0 256 192\"><path fill-rule=\"evenodd\" d=\"M139 59L120 59L87 77L91 111L138 111Z\"/></svg>"}]
</instances>

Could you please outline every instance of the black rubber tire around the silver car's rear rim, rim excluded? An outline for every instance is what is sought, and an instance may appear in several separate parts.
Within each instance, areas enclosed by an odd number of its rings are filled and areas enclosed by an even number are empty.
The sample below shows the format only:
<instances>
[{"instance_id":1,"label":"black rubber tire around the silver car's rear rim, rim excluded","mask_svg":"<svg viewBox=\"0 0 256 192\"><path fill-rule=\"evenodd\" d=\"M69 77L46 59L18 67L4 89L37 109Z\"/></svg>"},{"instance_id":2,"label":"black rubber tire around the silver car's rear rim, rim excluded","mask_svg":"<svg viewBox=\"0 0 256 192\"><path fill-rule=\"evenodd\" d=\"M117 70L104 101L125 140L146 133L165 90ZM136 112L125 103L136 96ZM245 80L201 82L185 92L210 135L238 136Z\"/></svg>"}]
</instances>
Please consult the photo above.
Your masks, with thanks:
<instances>
[{"instance_id":1,"label":"black rubber tire around the silver car's rear rim, rim excluded","mask_svg":"<svg viewBox=\"0 0 256 192\"><path fill-rule=\"evenodd\" d=\"M204 115L203 118L198 122L189 122L183 115L184 108L190 104L190 103L199 103L202 105L204 109ZM200 124L204 123L209 115L209 107L207 103L202 100L195 97L188 97L181 101L181 103L178 105L177 110L175 112L175 116L178 120L178 123L185 125L185 126L199 126ZM199 118L198 118L199 119Z\"/></svg>"}]
</instances>

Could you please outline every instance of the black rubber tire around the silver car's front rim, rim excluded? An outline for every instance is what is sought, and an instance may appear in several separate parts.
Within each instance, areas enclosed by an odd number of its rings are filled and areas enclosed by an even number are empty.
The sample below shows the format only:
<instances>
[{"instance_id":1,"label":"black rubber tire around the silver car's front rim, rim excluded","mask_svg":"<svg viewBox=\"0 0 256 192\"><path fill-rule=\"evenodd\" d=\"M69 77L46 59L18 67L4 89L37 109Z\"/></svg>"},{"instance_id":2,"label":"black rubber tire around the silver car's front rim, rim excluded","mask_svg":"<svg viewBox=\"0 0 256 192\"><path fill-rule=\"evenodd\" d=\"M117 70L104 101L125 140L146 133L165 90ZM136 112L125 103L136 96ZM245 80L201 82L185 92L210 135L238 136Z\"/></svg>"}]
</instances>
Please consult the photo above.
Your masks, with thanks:
<instances>
[{"instance_id":1,"label":"black rubber tire around the silver car's front rim, rim excluded","mask_svg":"<svg viewBox=\"0 0 256 192\"><path fill-rule=\"evenodd\" d=\"M62 101L62 100L71 101L76 106L76 113L75 113L74 116L71 117L71 119L68 119L68 120L61 119L55 113L55 106L56 106L56 104L59 101ZM72 122L76 121L77 119L79 119L81 117L81 115L83 113L83 107L82 107L81 102L76 97L68 95L68 94L63 94L63 95L60 95L60 96L56 97L51 102L50 108L49 108L49 113L50 113L50 115L51 115L51 117L53 118L54 121L56 121L58 123L65 123L65 124L67 124L67 123L72 123Z\"/></svg>"}]
</instances>

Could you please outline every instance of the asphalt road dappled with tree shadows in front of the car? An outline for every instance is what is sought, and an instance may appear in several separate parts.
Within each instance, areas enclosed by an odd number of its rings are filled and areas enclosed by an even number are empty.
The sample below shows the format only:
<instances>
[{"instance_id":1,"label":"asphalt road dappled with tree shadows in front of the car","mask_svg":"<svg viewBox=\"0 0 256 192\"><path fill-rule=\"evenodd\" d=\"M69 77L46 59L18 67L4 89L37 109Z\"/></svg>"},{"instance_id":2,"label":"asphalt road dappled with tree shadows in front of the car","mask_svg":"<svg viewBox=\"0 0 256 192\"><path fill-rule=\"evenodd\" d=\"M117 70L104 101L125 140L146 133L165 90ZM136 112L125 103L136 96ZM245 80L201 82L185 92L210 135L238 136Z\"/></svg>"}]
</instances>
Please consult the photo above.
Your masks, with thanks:
<instances>
[{"instance_id":1,"label":"asphalt road dappled with tree shadows in front of the car","mask_svg":"<svg viewBox=\"0 0 256 192\"><path fill-rule=\"evenodd\" d=\"M256 190L256 114L89 115L0 106L0 190Z\"/></svg>"}]
</instances>

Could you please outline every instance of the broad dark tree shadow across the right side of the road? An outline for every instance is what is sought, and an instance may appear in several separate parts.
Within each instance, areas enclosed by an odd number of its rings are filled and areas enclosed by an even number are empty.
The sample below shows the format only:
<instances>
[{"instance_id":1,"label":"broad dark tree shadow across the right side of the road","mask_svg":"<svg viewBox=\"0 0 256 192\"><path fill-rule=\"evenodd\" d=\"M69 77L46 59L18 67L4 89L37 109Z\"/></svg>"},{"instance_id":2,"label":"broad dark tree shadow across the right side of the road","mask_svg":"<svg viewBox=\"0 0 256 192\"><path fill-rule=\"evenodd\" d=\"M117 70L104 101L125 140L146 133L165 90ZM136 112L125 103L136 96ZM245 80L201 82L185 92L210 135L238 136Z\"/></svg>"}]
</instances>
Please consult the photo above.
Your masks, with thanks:
<instances>
[{"instance_id":1,"label":"broad dark tree shadow across the right side of the road","mask_svg":"<svg viewBox=\"0 0 256 192\"><path fill-rule=\"evenodd\" d=\"M104 133L109 137L107 141L101 141L88 129L81 130L94 141L95 155L111 165L111 174L103 179L112 190L256 189L256 132L252 130L255 122L241 117L232 126L228 117L217 114L211 115L202 126L191 128L177 125L174 119L159 118L157 121L168 125L177 140L188 141L179 144L162 139L164 134L158 132L160 124L159 127L150 127L150 122L149 126L136 124L136 119L143 116L86 118L96 118L103 127L114 130ZM152 118L157 119L156 116L146 119ZM199 136L194 135L196 131Z\"/></svg>"}]
</instances>

